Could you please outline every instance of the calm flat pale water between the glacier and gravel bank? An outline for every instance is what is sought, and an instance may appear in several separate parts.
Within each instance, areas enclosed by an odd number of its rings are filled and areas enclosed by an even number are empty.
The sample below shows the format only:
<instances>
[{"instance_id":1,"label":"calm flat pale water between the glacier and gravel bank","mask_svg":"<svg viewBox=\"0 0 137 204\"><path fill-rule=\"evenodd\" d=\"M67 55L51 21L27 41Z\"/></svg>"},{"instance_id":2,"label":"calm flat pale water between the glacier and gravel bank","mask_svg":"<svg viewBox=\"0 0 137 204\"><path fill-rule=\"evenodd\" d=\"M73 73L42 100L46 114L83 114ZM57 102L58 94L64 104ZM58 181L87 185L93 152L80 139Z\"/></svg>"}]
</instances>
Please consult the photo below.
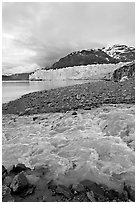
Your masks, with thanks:
<instances>
[{"instance_id":1,"label":"calm flat pale water between the glacier and gravel bank","mask_svg":"<svg viewBox=\"0 0 137 204\"><path fill-rule=\"evenodd\" d=\"M86 83L88 80L56 80L56 81L3 81L2 82L2 103L15 100L24 94L44 89L70 86Z\"/></svg>"}]
</instances>

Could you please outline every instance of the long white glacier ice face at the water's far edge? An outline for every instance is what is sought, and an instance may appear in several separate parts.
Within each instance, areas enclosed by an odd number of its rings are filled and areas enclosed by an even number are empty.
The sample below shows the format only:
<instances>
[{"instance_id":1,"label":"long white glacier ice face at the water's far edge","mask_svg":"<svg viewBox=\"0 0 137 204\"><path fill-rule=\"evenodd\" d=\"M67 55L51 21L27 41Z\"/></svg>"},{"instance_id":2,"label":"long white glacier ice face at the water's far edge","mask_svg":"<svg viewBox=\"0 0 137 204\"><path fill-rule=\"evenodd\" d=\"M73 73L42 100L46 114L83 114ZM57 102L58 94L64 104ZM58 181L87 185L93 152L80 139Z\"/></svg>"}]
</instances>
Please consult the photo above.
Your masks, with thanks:
<instances>
[{"instance_id":1,"label":"long white glacier ice face at the water's far edge","mask_svg":"<svg viewBox=\"0 0 137 204\"><path fill-rule=\"evenodd\" d=\"M36 70L29 75L29 80L82 80L82 79L102 79L106 74L113 71L126 63L117 64L96 64L86 66L74 66L61 69Z\"/></svg>"}]
</instances>

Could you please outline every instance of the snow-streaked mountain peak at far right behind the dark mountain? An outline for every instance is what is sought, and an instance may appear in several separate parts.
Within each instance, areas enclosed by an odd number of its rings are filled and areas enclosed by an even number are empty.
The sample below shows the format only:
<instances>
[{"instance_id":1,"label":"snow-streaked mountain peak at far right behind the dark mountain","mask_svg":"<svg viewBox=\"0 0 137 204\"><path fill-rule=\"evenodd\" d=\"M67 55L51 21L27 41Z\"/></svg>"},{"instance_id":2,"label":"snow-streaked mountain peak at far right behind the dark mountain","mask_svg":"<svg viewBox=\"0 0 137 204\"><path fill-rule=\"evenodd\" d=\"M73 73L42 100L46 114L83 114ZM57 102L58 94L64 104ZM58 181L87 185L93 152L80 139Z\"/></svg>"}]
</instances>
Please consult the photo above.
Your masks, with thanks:
<instances>
[{"instance_id":1,"label":"snow-streaked mountain peak at far right behind the dark mountain","mask_svg":"<svg viewBox=\"0 0 137 204\"><path fill-rule=\"evenodd\" d=\"M131 62L135 60L135 48L126 45L113 45L112 47L102 48L110 57L120 62Z\"/></svg>"}]
</instances>

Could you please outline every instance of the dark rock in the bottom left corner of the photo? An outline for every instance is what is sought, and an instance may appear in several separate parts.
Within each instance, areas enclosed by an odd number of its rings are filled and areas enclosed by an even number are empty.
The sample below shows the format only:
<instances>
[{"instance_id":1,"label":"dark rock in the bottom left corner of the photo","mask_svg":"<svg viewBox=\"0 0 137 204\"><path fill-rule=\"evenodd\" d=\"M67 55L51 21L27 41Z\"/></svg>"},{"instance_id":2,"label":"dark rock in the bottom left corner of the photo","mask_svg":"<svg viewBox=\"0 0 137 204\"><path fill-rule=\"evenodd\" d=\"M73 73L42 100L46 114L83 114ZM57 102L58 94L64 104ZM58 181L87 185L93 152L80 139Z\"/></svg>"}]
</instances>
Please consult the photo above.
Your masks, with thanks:
<instances>
[{"instance_id":1,"label":"dark rock in the bottom left corner of the photo","mask_svg":"<svg viewBox=\"0 0 137 204\"><path fill-rule=\"evenodd\" d=\"M6 185L2 186L2 201L3 202L14 202L15 199L11 195L11 189Z\"/></svg>"}]
</instances>

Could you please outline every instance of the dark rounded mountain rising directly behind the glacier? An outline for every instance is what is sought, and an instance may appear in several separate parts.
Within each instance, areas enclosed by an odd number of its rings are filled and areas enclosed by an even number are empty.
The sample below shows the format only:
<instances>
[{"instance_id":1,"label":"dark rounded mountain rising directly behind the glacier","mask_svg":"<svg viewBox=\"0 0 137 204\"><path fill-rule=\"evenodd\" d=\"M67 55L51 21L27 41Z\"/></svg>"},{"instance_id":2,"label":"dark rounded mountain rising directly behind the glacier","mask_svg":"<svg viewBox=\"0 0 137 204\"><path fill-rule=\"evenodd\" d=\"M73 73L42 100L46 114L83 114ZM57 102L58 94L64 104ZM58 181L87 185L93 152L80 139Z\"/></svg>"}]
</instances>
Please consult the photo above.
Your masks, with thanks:
<instances>
[{"instance_id":1,"label":"dark rounded mountain rising directly behind the glacier","mask_svg":"<svg viewBox=\"0 0 137 204\"><path fill-rule=\"evenodd\" d=\"M58 62L51 66L51 69L59 69L65 67L73 67L90 64L113 64L118 60L109 56L101 49L88 49L72 52L61 58Z\"/></svg>"}]
</instances>

